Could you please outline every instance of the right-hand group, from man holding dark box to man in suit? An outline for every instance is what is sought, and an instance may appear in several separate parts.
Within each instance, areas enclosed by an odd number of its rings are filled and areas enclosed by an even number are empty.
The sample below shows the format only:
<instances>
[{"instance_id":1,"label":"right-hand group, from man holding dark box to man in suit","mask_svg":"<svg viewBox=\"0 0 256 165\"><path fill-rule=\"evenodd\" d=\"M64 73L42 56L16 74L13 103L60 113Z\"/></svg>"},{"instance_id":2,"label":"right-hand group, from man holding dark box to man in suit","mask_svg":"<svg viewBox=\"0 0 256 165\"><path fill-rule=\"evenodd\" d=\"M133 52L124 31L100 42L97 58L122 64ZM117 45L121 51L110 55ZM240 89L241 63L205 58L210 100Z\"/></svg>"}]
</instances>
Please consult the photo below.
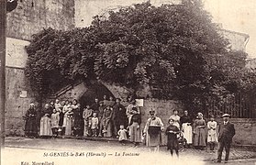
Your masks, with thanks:
<instances>
[{"instance_id":1,"label":"right-hand group, from man holding dark box to man in suit","mask_svg":"<svg viewBox=\"0 0 256 165\"><path fill-rule=\"evenodd\" d=\"M151 117L147 121L144 134L147 136L146 145L158 150L161 144L161 131L164 128L161 119L154 114L154 111L150 111ZM184 144L184 147L190 147L193 144L198 149L204 149L208 143L210 150L214 150L218 143L217 162L221 161L224 148L225 162L228 162L232 137L235 135L235 127L229 122L229 116L228 114L222 115L223 122L217 125L213 115L206 123L202 113L198 113L193 120L187 111L184 111L184 115L180 117L178 111L174 110L168 120L169 126L165 129L167 149L170 149L172 156L173 150L178 156L180 143Z\"/></svg>"}]
</instances>

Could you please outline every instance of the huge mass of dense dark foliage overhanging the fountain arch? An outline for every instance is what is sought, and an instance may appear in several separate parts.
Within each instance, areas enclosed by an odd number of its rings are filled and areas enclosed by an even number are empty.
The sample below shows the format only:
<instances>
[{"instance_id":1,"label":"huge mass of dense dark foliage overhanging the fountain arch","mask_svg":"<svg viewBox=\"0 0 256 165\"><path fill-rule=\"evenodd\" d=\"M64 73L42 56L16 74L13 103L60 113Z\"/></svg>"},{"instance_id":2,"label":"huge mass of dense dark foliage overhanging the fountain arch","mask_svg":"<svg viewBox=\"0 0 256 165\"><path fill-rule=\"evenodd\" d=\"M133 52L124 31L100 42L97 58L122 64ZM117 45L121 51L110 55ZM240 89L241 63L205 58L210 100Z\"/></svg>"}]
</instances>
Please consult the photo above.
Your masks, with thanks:
<instances>
[{"instance_id":1,"label":"huge mass of dense dark foliage overhanging the fountain arch","mask_svg":"<svg viewBox=\"0 0 256 165\"><path fill-rule=\"evenodd\" d=\"M246 54L227 45L199 0L145 3L96 16L87 28L44 29L27 47L26 74L39 93L100 79L135 89L148 84L154 97L198 108L242 88Z\"/></svg>"}]
</instances>

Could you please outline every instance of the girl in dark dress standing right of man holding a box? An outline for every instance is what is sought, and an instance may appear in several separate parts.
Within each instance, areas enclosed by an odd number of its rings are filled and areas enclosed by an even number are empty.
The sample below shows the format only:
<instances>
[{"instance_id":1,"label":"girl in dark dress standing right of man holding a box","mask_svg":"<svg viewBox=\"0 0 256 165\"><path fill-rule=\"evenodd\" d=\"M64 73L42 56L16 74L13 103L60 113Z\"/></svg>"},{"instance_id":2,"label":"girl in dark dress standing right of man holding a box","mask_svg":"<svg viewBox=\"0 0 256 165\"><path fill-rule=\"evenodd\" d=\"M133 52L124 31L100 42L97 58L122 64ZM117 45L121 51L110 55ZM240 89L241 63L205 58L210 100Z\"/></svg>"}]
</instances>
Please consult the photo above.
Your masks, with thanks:
<instances>
[{"instance_id":1,"label":"girl in dark dress standing right of man holding a box","mask_svg":"<svg viewBox=\"0 0 256 165\"><path fill-rule=\"evenodd\" d=\"M177 134L179 134L180 130L177 126L174 126L174 120L169 119L170 126L166 128L165 135L167 135L167 149L170 149L171 155L173 156L173 149L176 152L177 157L179 157L179 142Z\"/></svg>"}]
</instances>

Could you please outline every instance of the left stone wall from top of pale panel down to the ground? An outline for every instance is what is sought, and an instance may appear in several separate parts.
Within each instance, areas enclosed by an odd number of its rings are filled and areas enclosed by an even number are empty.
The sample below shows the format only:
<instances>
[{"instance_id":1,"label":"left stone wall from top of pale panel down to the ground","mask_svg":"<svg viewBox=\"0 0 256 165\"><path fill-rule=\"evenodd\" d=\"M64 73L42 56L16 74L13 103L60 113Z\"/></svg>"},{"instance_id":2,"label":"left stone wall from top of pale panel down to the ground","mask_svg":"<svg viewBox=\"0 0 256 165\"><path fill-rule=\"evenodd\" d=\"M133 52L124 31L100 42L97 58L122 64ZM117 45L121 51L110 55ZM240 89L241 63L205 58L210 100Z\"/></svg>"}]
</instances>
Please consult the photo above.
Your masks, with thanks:
<instances>
[{"instance_id":1,"label":"left stone wall from top of pale panel down to the ground","mask_svg":"<svg viewBox=\"0 0 256 165\"><path fill-rule=\"evenodd\" d=\"M6 38L6 135L23 135L28 104L34 101L34 93L26 82L24 67L28 54L28 41Z\"/></svg>"}]
</instances>

